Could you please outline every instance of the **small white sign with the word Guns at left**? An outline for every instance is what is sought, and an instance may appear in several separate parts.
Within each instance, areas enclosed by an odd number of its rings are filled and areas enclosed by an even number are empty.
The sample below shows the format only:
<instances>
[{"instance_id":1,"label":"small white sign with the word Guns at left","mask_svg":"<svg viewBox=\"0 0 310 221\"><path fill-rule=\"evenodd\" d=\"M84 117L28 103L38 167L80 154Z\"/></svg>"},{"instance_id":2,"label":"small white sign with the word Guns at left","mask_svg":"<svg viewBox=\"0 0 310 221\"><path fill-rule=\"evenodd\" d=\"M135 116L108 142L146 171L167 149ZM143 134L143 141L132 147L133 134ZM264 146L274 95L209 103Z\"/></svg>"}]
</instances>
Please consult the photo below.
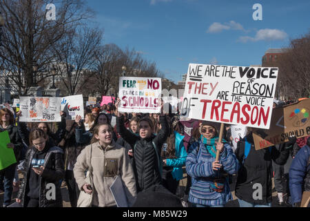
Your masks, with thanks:
<instances>
[{"instance_id":1,"label":"small white sign with the word Guns at left","mask_svg":"<svg viewBox=\"0 0 310 221\"><path fill-rule=\"evenodd\" d=\"M83 95L72 95L61 99L61 111L67 114L66 119L75 119L80 115L84 119Z\"/></svg>"}]
</instances>

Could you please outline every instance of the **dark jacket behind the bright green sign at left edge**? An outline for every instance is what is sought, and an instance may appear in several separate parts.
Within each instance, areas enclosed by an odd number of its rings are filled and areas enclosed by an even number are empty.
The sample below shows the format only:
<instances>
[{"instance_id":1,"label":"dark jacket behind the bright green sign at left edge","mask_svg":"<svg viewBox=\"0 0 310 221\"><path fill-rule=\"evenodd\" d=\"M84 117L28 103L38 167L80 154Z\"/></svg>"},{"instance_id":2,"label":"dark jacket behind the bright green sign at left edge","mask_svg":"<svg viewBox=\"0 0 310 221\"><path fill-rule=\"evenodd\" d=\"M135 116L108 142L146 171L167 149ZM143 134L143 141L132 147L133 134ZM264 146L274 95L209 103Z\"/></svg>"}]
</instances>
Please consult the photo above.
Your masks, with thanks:
<instances>
[{"instance_id":1,"label":"dark jacket behind the bright green sign at left edge","mask_svg":"<svg viewBox=\"0 0 310 221\"><path fill-rule=\"evenodd\" d=\"M19 136L19 132L17 129L17 126L9 125L7 128L3 128L0 125L0 133L3 131L8 131L10 141L12 144L14 144L14 155L16 158L17 163L19 162L19 158L21 156L21 149L23 148L23 142L21 140L21 137Z\"/></svg>"}]
</instances>

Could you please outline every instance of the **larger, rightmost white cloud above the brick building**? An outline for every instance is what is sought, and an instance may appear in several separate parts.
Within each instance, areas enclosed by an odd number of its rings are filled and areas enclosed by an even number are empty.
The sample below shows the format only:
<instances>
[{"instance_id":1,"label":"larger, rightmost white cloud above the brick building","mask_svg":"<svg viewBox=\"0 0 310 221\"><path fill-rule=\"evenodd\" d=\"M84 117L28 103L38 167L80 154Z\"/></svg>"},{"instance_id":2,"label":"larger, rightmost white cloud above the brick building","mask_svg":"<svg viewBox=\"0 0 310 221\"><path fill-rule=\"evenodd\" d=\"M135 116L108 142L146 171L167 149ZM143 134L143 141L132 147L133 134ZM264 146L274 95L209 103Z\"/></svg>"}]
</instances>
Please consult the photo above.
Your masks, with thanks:
<instances>
[{"instance_id":1,"label":"larger, rightmost white cloud above the brick building","mask_svg":"<svg viewBox=\"0 0 310 221\"><path fill-rule=\"evenodd\" d=\"M278 29L260 29L255 37L242 36L238 41L246 43L247 41L283 41L287 38L287 33Z\"/></svg>"}]
</instances>

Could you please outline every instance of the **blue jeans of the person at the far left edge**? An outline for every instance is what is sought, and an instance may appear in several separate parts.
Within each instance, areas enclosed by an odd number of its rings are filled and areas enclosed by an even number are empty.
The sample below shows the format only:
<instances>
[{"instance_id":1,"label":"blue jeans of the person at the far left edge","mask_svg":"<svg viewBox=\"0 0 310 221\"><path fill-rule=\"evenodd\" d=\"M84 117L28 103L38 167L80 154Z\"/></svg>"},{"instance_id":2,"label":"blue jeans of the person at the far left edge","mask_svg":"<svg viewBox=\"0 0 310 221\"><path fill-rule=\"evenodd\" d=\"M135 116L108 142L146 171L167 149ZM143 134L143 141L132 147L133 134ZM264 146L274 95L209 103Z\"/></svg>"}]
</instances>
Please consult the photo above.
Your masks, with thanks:
<instances>
[{"instance_id":1,"label":"blue jeans of the person at the far left edge","mask_svg":"<svg viewBox=\"0 0 310 221\"><path fill-rule=\"evenodd\" d=\"M13 180L15 175L16 164L8 166L6 169L0 171L1 176L3 176L3 206L8 206L12 200L13 193Z\"/></svg>"}]
</instances>

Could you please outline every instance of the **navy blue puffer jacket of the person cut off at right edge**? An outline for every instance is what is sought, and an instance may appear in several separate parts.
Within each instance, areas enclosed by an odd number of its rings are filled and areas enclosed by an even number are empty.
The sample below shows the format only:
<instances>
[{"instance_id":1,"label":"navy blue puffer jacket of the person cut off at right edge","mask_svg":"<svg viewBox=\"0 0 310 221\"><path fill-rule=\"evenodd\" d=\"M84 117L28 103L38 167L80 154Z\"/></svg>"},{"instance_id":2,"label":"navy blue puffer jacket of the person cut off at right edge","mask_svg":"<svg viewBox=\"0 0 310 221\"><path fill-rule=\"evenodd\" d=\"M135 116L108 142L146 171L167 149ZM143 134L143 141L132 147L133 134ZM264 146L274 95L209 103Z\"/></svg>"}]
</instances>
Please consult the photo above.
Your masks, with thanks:
<instances>
[{"instance_id":1,"label":"navy blue puffer jacket of the person cut off at right edge","mask_svg":"<svg viewBox=\"0 0 310 221\"><path fill-rule=\"evenodd\" d=\"M293 207L300 206L303 191L310 191L310 137L291 163L289 191Z\"/></svg>"}]
</instances>

